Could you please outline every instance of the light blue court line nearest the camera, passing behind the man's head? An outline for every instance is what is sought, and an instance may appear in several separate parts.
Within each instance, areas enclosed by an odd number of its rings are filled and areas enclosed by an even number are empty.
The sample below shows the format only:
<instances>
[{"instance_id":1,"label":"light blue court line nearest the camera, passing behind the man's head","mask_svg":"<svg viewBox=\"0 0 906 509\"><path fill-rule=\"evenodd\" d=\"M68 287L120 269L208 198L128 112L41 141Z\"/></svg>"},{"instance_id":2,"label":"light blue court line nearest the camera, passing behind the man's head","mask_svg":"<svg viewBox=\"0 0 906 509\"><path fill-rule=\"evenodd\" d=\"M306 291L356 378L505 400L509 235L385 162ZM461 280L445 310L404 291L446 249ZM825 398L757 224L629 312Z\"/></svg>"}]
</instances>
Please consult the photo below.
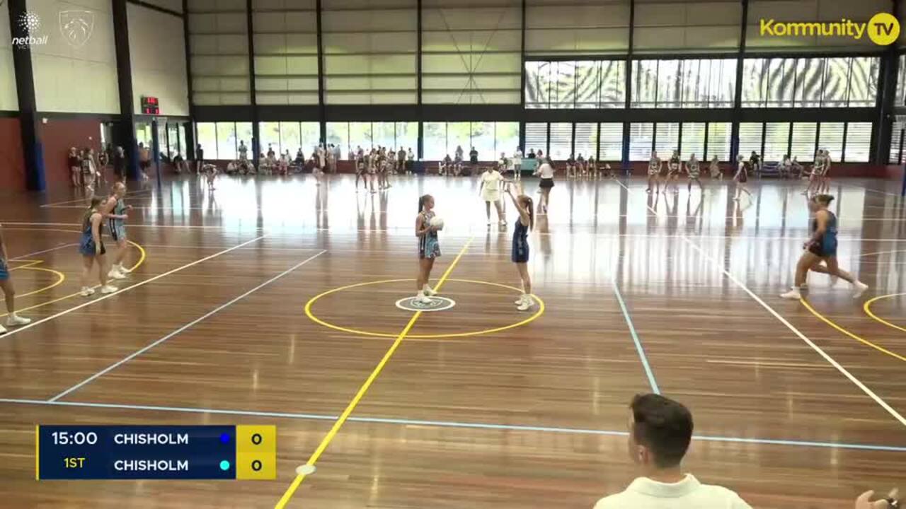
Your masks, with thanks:
<instances>
[{"instance_id":1,"label":"light blue court line nearest the camera, passing behind the man's head","mask_svg":"<svg viewBox=\"0 0 906 509\"><path fill-rule=\"evenodd\" d=\"M217 414L229 416L249 416L256 418L295 418L306 420L334 421L339 416L324 414L305 414L293 412L261 412L255 410L227 410L217 408L192 408L192 407L159 407L153 405L120 405L117 403L87 403L80 401L45 401L43 399L5 399L0 398L0 403L13 403L20 405L42 405L49 407L78 407L78 408L111 408L125 410L150 410L158 412L182 412L193 414ZM544 427L544 426L519 426L507 424L490 424L481 422L455 422L445 420L417 420L405 418L362 418L350 417L348 420L375 424L400 424L404 426L433 426L433 427L460 427L472 429L496 429L506 431L541 431L546 433L564 433L573 435L597 435L605 437L627 437L626 431L613 431L608 429L583 429L578 427ZM854 449L866 451L886 451L906 453L906 447L877 446L872 444L847 444L836 442L813 442L808 440L779 440L773 438L738 438L738 437L712 437L708 435L694 435L694 440L702 442L726 442L735 444L756 444L768 446L789 447L822 447L830 449Z\"/></svg>"}]
</instances>

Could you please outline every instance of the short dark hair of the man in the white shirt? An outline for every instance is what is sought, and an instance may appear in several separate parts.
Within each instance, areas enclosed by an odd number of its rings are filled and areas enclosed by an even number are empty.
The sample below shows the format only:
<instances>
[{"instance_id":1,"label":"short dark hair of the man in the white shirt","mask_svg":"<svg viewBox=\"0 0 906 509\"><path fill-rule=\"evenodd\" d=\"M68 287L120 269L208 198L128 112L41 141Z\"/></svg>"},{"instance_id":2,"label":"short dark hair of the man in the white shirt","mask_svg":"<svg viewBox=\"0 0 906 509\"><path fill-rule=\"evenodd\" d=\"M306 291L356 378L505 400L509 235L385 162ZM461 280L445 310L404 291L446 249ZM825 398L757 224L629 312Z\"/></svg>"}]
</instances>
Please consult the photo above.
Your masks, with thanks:
<instances>
[{"instance_id":1,"label":"short dark hair of the man in the white shirt","mask_svg":"<svg viewBox=\"0 0 906 509\"><path fill-rule=\"evenodd\" d=\"M692 439L689 408L658 394L637 394L630 408L636 443L651 449L659 468L678 466Z\"/></svg>"}]
</instances>

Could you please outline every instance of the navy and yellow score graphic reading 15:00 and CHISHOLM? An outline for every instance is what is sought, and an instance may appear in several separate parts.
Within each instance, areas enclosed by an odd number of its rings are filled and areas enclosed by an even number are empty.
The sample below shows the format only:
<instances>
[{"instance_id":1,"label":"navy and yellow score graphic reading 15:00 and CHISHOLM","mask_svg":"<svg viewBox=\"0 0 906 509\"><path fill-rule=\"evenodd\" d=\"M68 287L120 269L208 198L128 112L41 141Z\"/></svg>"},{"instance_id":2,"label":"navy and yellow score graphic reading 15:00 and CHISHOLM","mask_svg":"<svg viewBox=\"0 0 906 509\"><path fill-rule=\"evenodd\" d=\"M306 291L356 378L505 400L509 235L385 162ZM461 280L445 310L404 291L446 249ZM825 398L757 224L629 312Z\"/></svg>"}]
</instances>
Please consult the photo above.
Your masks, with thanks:
<instances>
[{"instance_id":1,"label":"navy and yellow score graphic reading 15:00 and CHISHOLM","mask_svg":"<svg viewBox=\"0 0 906 509\"><path fill-rule=\"evenodd\" d=\"M38 426L34 478L275 479L275 426Z\"/></svg>"}]
</instances>

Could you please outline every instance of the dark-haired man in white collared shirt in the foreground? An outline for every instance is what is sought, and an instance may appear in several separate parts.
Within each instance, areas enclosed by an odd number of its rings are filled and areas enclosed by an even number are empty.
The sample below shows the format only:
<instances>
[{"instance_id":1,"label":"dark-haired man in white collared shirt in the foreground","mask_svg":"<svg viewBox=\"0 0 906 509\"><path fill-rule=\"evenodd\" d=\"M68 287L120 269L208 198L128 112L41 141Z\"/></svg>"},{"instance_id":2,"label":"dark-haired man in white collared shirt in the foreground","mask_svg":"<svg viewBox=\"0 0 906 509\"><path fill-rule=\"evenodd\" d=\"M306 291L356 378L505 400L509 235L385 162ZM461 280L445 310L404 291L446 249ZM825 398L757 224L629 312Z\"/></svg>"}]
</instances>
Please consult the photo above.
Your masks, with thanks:
<instances>
[{"instance_id":1,"label":"dark-haired man in white collared shirt in the foreground","mask_svg":"<svg viewBox=\"0 0 906 509\"><path fill-rule=\"evenodd\" d=\"M629 454L642 475L594 509L752 509L727 488L683 474L679 464L692 439L688 408L658 394L637 395L630 408Z\"/></svg>"}]
</instances>

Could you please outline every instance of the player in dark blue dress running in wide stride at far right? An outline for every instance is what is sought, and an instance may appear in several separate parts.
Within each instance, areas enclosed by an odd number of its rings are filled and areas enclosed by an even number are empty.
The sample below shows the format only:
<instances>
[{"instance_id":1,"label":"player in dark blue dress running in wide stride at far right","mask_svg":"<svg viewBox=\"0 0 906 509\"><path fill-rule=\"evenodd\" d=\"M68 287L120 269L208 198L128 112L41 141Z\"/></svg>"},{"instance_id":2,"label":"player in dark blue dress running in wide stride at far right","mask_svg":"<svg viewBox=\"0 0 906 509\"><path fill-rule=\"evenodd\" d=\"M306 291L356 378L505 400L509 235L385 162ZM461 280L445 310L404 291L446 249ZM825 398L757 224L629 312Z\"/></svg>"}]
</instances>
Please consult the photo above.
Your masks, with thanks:
<instances>
[{"instance_id":1,"label":"player in dark blue dress running in wide stride at far right","mask_svg":"<svg viewBox=\"0 0 906 509\"><path fill-rule=\"evenodd\" d=\"M795 267L795 285L789 292L780 296L784 299L798 301L802 293L808 291L805 284L805 275L808 271L821 274L830 274L832 282L837 277L853 284L853 299L858 299L868 290L868 285L855 279L837 264L837 216L827 206L834 201L830 195L816 195L808 200L808 208L814 212L812 219L812 237L803 245L805 253L799 258ZM822 262L826 266L822 266Z\"/></svg>"}]
</instances>

